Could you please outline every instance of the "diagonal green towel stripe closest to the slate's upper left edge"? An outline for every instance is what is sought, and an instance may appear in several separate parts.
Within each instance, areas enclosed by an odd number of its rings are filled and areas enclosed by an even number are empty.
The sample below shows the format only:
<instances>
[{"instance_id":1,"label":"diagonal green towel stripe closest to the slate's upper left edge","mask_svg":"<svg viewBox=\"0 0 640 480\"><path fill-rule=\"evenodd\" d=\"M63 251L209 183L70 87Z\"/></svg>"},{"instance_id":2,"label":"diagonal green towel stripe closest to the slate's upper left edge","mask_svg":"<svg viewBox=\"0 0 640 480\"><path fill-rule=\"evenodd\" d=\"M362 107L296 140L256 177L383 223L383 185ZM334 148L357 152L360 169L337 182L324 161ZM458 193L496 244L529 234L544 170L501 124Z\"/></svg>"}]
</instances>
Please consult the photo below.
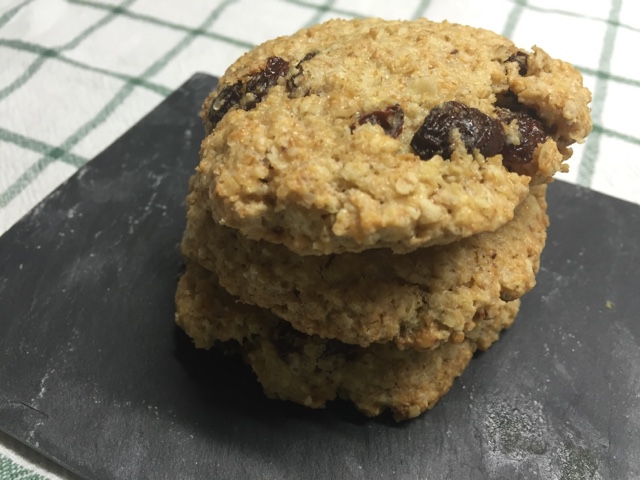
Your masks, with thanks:
<instances>
[{"instance_id":1,"label":"diagonal green towel stripe closest to the slate's upper left edge","mask_svg":"<svg viewBox=\"0 0 640 480\"><path fill-rule=\"evenodd\" d=\"M197 36L197 32L201 29L209 28L215 20L222 14L222 12L235 0L227 0L221 3L216 9L214 9L205 21L198 27L198 29L190 30L189 33L180 40L173 48L171 48L166 54L156 60L150 67L148 67L141 75L142 80L146 80L147 77L158 73L167 63L171 61L176 55L184 50ZM67 154L75 145L77 145L84 137L86 137L97 126L105 122L111 113L118 108L129 97L137 86L138 81L127 82L116 95L98 112L98 114L82 125L75 133L67 138L58 148L47 152L44 157L38 160L34 165L27 169L12 185L9 186L4 192L0 193L0 208L5 207L11 202L17 195L20 194L24 188L29 185L47 166L53 161L58 160L60 157L53 155L53 152Z\"/></svg>"}]
</instances>

